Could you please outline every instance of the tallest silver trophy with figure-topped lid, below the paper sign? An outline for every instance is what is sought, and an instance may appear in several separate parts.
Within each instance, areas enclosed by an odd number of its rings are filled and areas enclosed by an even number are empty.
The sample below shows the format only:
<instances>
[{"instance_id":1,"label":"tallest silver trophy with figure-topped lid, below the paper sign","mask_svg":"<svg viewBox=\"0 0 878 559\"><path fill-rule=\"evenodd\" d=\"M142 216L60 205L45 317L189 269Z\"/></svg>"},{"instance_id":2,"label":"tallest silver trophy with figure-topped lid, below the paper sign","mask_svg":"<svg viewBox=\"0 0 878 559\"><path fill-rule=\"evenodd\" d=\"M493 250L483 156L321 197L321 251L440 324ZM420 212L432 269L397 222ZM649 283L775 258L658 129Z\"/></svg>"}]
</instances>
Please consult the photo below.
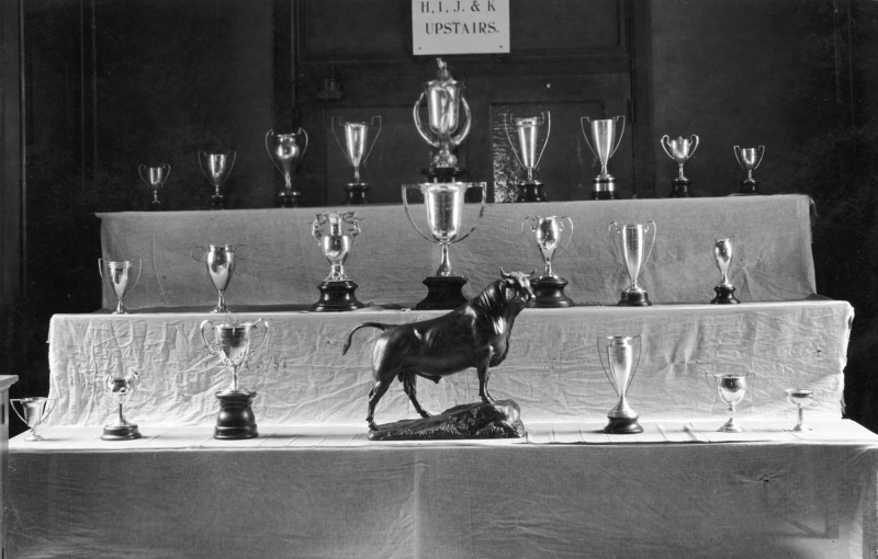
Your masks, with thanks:
<instances>
[{"instance_id":1,"label":"tallest silver trophy with figure-topped lid, below the paper sign","mask_svg":"<svg viewBox=\"0 0 878 559\"><path fill-rule=\"evenodd\" d=\"M430 168L425 169L424 174L430 181L449 182L463 174L463 170L458 167L458 158L453 150L470 134L472 114L470 105L463 99L463 83L451 78L448 65L441 58L436 60L439 66L437 79L424 84L424 91L415 102L413 116L420 137L437 148ZM425 99L428 115L426 126L420 121L420 105Z\"/></svg>"}]
</instances>

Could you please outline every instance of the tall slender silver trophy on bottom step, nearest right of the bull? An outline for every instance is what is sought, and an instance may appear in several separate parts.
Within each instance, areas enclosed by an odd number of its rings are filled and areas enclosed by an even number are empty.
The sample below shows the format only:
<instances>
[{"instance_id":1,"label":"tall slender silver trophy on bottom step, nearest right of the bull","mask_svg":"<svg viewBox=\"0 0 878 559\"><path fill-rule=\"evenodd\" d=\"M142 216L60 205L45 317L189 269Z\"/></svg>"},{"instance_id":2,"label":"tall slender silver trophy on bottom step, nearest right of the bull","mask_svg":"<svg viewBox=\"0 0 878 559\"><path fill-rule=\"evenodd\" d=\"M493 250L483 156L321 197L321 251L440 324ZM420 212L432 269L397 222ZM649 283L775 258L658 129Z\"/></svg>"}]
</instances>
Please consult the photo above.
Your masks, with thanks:
<instances>
[{"instance_id":1,"label":"tall slender silver trophy on bottom step, nearest right of the bull","mask_svg":"<svg viewBox=\"0 0 878 559\"><path fill-rule=\"evenodd\" d=\"M609 423L604 427L605 433L614 435L643 433L643 427L638 422L638 413L628 404L628 388L634 379L642 351L642 346L640 346L638 361L634 363L633 341L635 339L640 342L639 335L610 335L597 340L600 366L604 367L604 374L607 375L607 379L619 397L619 403L607 414ZM605 353L606 363L604 361Z\"/></svg>"}]
</instances>

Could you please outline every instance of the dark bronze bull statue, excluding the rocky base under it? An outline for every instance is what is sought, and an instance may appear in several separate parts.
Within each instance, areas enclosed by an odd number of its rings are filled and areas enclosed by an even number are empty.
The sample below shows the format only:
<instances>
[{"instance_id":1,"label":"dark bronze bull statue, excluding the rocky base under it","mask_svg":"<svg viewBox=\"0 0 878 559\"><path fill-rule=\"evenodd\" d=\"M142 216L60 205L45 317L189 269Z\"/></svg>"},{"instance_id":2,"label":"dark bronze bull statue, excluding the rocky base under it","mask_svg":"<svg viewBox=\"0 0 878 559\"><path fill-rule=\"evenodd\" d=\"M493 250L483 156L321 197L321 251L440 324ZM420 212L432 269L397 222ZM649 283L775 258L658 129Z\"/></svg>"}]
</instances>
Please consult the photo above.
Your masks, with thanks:
<instances>
[{"instance_id":1,"label":"dark bronze bull statue, excluding the rocky base under it","mask_svg":"<svg viewBox=\"0 0 878 559\"><path fill-rule=\"evenodd\" d=\"M369 392L369 429L375 425L375 406L394 378L412 400L420 417L430 414L421 408L415 388L417 377L438 383L440 378L475 367L479 373L479 396L493 402L487 389L488 368L503 363L509 350L509 334L515 318L533 298L530 276L521 272L506 273L479 296L457 309L430 320L409 324L363 322L348 333L341 351L350 349L353 333L361 328L382 331L372 349L372 377L375 385ZM531 274L532 275L532 274Z\"/></svg>"}]
</instances>

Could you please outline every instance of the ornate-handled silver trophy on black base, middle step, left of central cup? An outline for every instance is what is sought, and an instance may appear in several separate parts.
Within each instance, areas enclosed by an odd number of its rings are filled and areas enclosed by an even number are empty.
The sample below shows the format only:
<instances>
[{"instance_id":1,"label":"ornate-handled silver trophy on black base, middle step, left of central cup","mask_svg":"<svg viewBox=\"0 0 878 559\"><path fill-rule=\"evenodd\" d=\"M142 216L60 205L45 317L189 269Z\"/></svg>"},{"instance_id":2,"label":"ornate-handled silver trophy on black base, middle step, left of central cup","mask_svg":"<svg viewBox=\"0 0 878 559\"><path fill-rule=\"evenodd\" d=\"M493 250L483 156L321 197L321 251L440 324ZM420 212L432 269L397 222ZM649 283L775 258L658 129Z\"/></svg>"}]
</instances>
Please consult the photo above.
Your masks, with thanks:
<instances>
[{"instance_id":1,"label":"ornate-handled silver trophy on black base, middle step, left of central cup","mask_svg":"<svg viewBox=\"0 0 878 559\"><path fill-rule=\"evenodd\" d=\"M324 232L325 226L328 230ZM317 214L312 224L312 235L329 261L331 269L326 280L318 286L320 298L311 310L344 311L363 308L357 300L357 284L345 273L345 261L360 235L360 219L353 212L324 212Z\"/></svg>"}]
</instances>

